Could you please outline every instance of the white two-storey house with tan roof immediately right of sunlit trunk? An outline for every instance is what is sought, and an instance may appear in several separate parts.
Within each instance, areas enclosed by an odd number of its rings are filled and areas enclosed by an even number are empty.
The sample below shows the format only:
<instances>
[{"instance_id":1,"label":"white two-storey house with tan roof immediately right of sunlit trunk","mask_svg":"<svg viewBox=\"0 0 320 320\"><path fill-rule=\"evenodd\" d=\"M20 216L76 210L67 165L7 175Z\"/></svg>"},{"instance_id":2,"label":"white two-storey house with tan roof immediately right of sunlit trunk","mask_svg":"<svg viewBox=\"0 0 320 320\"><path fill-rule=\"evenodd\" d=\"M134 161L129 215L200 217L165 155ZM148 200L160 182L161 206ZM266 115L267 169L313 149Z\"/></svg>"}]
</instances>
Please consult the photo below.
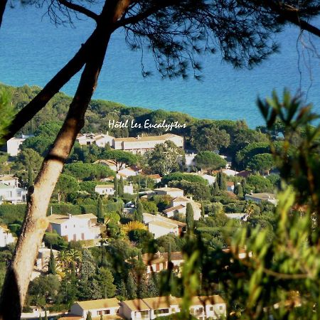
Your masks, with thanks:
<instances>
[{"instance_id":1,"label":"white two-storey house with tan roof immediately right of sunlit trunk","mask_svg":"<svg viewBox=\"0 0 320 320\"><path fill-rule=\"evenodd\" d=\"M100 225L92 213L84 215L49 215L48 231L55 230L67 241L93 240L100 238Z\"/></svg>"}]
</instances>

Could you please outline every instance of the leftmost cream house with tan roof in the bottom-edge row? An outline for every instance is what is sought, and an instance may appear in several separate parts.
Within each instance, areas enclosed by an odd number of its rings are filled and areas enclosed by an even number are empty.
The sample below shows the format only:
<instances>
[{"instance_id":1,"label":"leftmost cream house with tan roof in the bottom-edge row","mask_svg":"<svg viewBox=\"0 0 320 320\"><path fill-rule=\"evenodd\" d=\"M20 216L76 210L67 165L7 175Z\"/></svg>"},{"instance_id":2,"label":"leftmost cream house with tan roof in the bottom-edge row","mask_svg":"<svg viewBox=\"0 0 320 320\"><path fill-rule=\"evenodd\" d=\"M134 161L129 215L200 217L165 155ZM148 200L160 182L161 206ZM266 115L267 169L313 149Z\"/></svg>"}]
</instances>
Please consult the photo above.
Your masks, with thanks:
<instances>
[{"instance_id":1,"label":"leftmost cream house with tan roof in the bottom-edge row","mask_svg":"<svg viewBox=\"0 0 320 320\"><path fill-rule=\"evenodd\" d=\"M94 319L95 316L108 316L108 319L121 319L119 316L119 300L117 298L88 300L75 302L70 309L70 314L81 316L86 319L88 312ZM105 319L105 317L103 318ZM106 317L107 319L107 317Z\"/></svg>"}]
</instances>

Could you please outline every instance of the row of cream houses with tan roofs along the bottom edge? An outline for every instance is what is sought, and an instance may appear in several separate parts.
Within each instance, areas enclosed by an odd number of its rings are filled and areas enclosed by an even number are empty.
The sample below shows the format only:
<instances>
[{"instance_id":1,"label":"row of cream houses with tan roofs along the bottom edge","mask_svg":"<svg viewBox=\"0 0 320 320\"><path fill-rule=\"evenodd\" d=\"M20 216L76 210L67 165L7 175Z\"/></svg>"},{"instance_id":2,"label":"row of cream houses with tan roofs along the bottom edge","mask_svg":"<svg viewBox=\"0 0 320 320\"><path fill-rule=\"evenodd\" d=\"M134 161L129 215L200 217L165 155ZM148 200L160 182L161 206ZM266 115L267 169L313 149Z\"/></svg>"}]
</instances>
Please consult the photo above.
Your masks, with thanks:
<instances>
[{"instance_id":1,"label":"row of cream houses with tan roofs along the bottom edge","mask_svg":"<svg viewBox=\"0 0 320 320\"><path fill-rule=\"evenodd\" d=\"M70 314L60 320L85 320L87 314L92 319L104 320L153 320L181 311L181 298L154 297L119 301L117 298L75 302ZM192 297L190 314L199 320L224 319L227 314L226 304L219 295Z\"/></svg>"}]
</instances>

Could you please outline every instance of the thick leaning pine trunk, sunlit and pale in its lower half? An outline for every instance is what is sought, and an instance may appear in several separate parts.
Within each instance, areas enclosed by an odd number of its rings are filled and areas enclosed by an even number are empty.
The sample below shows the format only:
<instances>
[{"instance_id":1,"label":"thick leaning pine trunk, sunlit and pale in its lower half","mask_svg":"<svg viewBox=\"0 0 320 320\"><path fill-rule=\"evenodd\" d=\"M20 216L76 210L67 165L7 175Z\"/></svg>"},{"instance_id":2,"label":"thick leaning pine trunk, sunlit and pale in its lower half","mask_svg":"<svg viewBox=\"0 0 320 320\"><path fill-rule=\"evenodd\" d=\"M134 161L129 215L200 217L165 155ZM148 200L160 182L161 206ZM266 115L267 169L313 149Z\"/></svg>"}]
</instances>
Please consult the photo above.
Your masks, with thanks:
<instances>
[{"instance_id":1,"label":"thick leaning pine trunk, sunlit and pale in its lower half","mask_svg":"<svg viewBox=\"0 0 320 320\"><path fill-rule=\"evenodd\" d=\"M92 41L90 55L65 122L43 161L35 185L28 191L26 217L1 292L0 319L2 320L20 319L38 247L48 227L46 212L50 196L75 138L83 127L85 112L95 91L107 44L114 31L114 22L122 16L129 3L129 0L106 1L97 25L97 33Z\"/></svg>"}]
</instances>

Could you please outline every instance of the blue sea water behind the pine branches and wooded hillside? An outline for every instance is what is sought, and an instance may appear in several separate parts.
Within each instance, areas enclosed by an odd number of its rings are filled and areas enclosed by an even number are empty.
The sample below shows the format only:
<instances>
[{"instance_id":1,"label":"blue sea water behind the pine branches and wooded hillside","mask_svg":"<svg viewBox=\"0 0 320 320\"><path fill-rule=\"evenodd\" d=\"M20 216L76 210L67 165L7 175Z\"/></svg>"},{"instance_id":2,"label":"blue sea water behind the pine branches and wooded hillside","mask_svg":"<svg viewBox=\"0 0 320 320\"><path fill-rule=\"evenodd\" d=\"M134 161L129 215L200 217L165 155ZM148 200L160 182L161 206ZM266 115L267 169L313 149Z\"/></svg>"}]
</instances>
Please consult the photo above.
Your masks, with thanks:
<instances>
[{"instance_id":1,"label":"blue sea water behind the pine branches and wooded hillside","mask_svg":"<svg viewBox=\"0 0 320 320\"><path fill-rule=\"evenodd\" d=\"M94 29L89 20L75 26L55 26L43 10L31 6L7 8L0 29L0 82L8 85L46 85L46 82L77 52ZM307 94L320 113L320 39L304 36L287 27L276 39L280 53L270 56L253 70L235 70L221 60L220 53L203 55L203 81L161 80L160 75L143 78L141 53L132 52L119 31L111 38L94 98L125 105L185 112L198 118L245 119L250 127L263 124L257 97L282 93ZM306 48L311 48L307 50ZM320 50L319 50L320 52ZM151 54L144 52L146 68L154 70ZM73 95L79 75L63 87Z\"/></svg>"}]
</instances>

